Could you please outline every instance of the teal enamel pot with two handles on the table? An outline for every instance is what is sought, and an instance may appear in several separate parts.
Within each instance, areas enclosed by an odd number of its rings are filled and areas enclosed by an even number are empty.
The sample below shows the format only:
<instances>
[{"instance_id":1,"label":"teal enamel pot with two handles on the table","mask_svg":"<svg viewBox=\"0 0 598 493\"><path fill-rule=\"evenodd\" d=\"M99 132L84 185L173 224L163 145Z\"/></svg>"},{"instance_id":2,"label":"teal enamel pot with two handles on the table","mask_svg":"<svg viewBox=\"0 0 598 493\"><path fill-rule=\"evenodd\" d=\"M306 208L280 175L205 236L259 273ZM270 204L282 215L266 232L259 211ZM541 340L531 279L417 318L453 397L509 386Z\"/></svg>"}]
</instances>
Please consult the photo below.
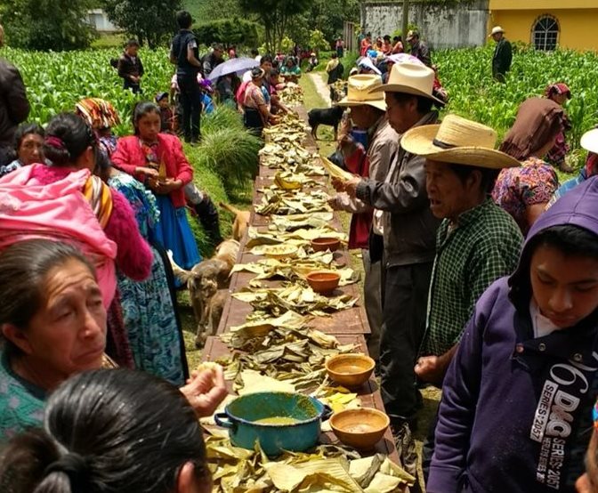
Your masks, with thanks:
<instances>
[{"instance_id":1,"label":"teal enamel pot with two handles on the table","mask_svg":"<svg viewBox=\"0 0 598 493\"><path fill-rule=\"evenodd\" d=\"M257 392L233 400L223 413L214 416L216 424L229 429L230 441L243 449L255 449L255 441L268 456L283 450L303 452L318 442L322 418L331 413L327 406L312 397L291 392ZM292 424L255 423L283 417Z\"/></svg>"}]
</instances>

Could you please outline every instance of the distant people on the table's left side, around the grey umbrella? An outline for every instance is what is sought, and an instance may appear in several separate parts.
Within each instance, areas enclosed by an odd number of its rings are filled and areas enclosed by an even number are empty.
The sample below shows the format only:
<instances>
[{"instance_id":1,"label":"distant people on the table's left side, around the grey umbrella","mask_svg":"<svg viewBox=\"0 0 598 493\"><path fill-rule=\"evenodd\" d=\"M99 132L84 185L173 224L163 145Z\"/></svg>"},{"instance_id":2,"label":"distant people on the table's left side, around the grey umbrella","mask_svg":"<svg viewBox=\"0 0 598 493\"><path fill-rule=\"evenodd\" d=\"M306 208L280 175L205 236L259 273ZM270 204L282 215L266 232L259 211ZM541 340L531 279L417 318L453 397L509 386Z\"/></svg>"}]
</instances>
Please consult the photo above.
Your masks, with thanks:
<instances>
[{"instance_id":1,"label":"distant people on the table's left side, around the grey umbrella","mask_svg":"<svg viewBox=\"0 0 598 493\"><path fill-rule=\"evenodd\" d=\"M214 43L203 56L199 53L198 39L190 29L192 18L189 12L179 12L177 23L180 28L171 44L170 61L176 65L168 93L158 93L154 101L161 110L162 126L165 133L179 133L184 141L197 143L201 140L201 116L214 111L214 104L227 104L238 109L244 117L245 125L256 135L261 135L264 126L276 121L277 112L286 111L280 104L277 92L288 83L297 84L302 76L301 62L309 58L308 70L318 65L316 53L303 51L299 46L287 53L275 56L261 56L252 50L257 71L247 69L238 74L237 69L212 76L214 69L222 63L238 58L235 46L225 49ZM343 56L343 41L336 41L335 55ZM143 64L138 54L139 44L131 39L118 59L111 61L118 76L123 79L123 87L141 93ZM309 53L309 54L308 54ZM252 86L259 90L255 91ZM246 91L249 87L249 91ZM262 95L259 94L262 93ZM267 109L267 111L266 111Z\"/></svg>"}]
</instances>

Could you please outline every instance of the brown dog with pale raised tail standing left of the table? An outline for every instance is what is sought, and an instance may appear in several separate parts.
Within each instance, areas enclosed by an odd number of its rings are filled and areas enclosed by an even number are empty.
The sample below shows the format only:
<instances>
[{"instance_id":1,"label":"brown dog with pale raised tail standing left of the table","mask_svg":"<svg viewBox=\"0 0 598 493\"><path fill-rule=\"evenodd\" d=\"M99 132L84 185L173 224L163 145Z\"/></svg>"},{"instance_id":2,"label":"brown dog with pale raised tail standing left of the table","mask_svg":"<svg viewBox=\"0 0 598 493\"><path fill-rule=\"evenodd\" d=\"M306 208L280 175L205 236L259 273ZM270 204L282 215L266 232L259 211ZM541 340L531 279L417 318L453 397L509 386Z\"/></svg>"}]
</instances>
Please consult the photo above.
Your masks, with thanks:
<instances>
[{"instance_id":1,"label":"brown dog with pale raised tail standing left of the table","mask_svg":"<svg viewBox=\"0 0 598 493\"><path fill-rule=\"evenodd\" d=\"M214 335L218 328L226 302L230 270L237 262L238 249L237 240L226 239L216 248L211 259L198 263L190 271L174 263L172 255L168 253L174 275L186 283L189 289L191 306L198 322L195 336L198 348L203 347L207 335Z\"/></svg>"}]
</instances>

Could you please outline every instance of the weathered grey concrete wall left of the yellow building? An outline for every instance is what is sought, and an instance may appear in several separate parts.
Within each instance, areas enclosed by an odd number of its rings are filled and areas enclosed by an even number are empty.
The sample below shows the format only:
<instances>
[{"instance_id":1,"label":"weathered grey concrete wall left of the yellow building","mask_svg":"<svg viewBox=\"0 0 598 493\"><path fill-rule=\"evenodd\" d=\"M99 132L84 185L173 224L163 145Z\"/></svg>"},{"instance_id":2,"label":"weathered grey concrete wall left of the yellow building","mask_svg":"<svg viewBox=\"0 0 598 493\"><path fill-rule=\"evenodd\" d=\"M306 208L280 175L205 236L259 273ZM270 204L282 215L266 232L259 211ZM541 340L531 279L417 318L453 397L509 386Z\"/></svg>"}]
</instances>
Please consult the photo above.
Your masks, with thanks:
<instances>
[{"instance_id":1,"label":"weathered grey concrete wall left of the yellow building","mask_svg":"<svg viewBox=\"0 0 598 493\"><path fill-rule=\"evenodd\" d=\"M374 37L392 35L401 21L402 2L361 4L361 25ZM422 39L436 49L484 44L488 22L488 0L451 7L409 3L409 23L416 24Z\"/></svg>"}]
</instances>

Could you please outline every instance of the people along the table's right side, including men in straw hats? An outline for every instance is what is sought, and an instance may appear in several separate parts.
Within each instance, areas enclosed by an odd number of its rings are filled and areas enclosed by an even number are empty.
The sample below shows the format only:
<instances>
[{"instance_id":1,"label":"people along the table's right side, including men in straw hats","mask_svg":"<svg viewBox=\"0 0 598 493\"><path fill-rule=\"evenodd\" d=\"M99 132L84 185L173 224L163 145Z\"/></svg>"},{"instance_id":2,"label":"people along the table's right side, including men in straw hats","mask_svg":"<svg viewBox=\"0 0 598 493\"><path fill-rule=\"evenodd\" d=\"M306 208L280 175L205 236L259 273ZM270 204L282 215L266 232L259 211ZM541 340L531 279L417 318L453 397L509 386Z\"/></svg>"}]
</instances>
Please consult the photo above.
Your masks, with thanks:
<instances>
[{"instance_id":1,"label":"people along the table's right side, including men in straw hats","mask_svg":"<svg viewBox=\"0 0 598 493\"><path fill-rule=\"evenodd\" d=\"M488 125L440 121L434 70L393 56L376 54L391 61L381 77L366 50L337 102L348 118L335 155L355 177L334 178L328 203L352 213L368 351L395 439L410 440L420 388L433 385L428 492L573 491L598 396L598 129L581 141L586 166L560 183L567 85L521 102L495 150ZM598 486L587 470L579 491Z\"/></svg>"}]
</instances>

